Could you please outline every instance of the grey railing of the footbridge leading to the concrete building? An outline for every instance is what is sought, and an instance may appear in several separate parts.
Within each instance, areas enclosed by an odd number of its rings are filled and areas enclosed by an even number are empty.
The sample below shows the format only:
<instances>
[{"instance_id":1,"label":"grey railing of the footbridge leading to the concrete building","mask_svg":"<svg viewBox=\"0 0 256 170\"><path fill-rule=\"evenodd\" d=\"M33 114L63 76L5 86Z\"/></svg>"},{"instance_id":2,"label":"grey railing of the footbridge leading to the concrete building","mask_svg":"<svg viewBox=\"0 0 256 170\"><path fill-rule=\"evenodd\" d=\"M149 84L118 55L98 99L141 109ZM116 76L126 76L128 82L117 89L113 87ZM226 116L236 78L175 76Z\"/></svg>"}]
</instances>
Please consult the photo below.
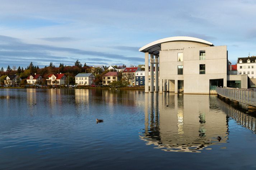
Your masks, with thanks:
<instances>
[{"instance_id":1,"label":"grey railing of the footbridge leading to the concrete building","mask_svg":"<svg viewBox=\"0 0 256 170\"><path fill-rule=\"evenodd\" d=\"M219 95L229 99L256 106L256 91L253 89L236 89L229 87L216 87Z\"/></svg>"}]
</instances>

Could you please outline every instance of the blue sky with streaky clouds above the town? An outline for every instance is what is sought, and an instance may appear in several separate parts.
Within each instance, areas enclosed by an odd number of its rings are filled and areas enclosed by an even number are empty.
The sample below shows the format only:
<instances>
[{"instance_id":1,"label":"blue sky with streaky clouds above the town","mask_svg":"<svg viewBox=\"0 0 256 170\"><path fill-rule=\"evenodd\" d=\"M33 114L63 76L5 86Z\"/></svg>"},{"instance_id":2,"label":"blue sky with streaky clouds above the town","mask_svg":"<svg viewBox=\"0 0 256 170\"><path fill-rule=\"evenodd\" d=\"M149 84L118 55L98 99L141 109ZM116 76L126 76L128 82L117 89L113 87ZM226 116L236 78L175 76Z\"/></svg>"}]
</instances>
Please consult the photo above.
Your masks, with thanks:
<instances>
[{"instance_id":1,"label":"blue sky with streaky clouds above the town","mask_svg":"<svg viewBox=\"0 0 256 170\"><path fill-rule=\"evenodd\" d=\"M0 67L144 64L139 48L172 36L256 56L255 0L0 0Z\"/></svg>"}]
</instances>

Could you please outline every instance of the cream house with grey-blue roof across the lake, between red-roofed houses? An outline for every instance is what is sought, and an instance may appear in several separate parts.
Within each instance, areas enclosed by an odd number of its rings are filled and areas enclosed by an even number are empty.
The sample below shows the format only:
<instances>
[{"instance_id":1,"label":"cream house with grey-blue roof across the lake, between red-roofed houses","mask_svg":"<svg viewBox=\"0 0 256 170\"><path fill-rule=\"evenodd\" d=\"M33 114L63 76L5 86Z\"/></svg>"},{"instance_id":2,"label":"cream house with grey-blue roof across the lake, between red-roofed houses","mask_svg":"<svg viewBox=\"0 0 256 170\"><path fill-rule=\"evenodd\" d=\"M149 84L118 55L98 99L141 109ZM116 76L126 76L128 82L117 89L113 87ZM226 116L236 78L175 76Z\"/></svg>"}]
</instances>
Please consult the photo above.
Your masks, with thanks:
<instances>
[{"instance_id":1,"label":"cream house with grey-blue roof across the lake, between red-roofed houses","mask_svg":"<svg viewBox=\"0 0 256 170\"><path fill-rule=\"evenodd\" d=\"M75 83L77 85L92 85L96 77L92 73L79 73L75 76Z\"/></svg>"}]
</instances>

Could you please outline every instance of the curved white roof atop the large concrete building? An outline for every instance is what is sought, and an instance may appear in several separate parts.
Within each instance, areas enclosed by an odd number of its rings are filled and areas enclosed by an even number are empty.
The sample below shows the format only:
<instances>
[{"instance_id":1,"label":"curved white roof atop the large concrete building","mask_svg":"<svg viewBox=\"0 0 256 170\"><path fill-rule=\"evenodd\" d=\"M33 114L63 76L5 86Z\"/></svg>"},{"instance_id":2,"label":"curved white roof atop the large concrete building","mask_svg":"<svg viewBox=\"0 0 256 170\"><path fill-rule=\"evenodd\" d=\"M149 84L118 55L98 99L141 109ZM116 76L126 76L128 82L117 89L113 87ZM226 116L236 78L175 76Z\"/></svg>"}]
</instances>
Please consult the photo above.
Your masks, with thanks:
<instances>
[{"instance_id":1,"label":"curved white roof atop the large concrete building","mask_svg":"<svg viewBox=\"0 0 256 170\"><path fill-rule=\"evenodd\" d=\"M141 52L149 52L150 54L159 54L159 50L161 49L162 43L167 43L171 41L191 41L196 43L203 43L210 46L214 46L213 43L210 43L209 41L205 41L199 38L189 37L189 36L173 36L168 38L163 38L160 40L153 41L152 43L149 43L139 49Z\"/></svg>"}]
</instances>

